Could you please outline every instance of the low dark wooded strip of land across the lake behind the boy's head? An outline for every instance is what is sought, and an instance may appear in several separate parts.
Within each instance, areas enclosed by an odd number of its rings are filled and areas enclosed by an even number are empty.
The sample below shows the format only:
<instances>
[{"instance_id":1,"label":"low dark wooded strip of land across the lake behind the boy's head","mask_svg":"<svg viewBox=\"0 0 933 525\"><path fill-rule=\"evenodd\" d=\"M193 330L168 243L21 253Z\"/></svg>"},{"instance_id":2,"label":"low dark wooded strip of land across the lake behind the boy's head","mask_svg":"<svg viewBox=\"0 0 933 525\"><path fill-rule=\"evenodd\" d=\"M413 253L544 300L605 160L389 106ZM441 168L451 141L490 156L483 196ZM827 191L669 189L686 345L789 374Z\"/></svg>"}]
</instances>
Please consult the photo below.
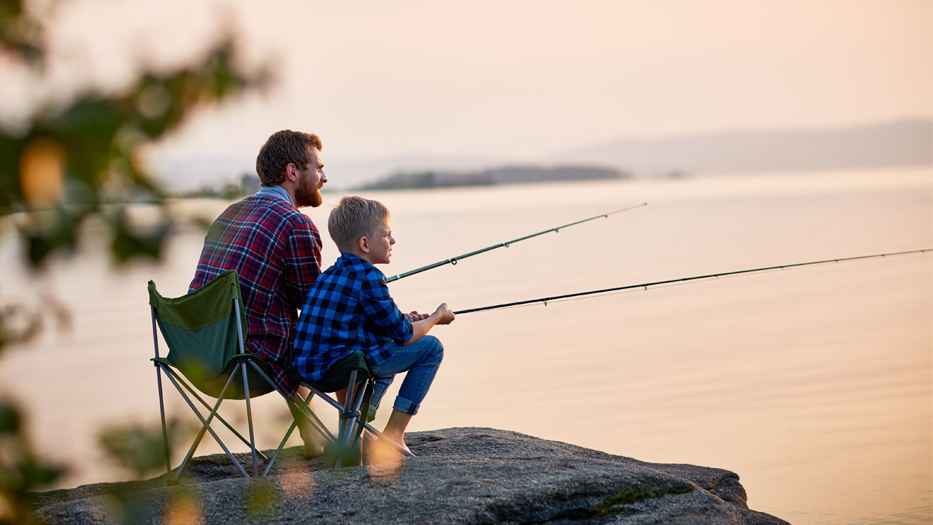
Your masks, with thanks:
<instances>
[{"instance_id":1,"label":"low dark wooded strip of land across the lake behind the boy's head","mask_svg":"<svg viewBox=\"0 0 933 525\"><path fill-rule=\"evenodd\" d=\"M457 173L439 171L396 172L360 187L361 190L401 190L410 188L451 188L454 186L488 186L556 180L592 180L630 177L616 168L598 166L532 165L505 166L482 171Z\"/></svg>"}]
</instances>

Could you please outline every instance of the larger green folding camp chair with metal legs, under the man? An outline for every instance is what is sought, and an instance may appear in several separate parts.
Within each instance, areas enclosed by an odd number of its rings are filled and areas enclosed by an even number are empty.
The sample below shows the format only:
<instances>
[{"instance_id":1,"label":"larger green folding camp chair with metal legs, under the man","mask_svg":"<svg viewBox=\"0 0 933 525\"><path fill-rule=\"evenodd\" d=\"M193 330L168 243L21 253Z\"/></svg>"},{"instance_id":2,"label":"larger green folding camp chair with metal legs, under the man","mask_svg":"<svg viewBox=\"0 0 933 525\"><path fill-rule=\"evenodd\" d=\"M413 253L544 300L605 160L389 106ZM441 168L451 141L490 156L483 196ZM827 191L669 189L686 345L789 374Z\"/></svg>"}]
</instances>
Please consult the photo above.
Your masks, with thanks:
<instances>
[{"instance_id":1,"label":"larger green folding camp chair with metal legs, under the man","mask_svg":"<svg viewBox=\"0 0 933 525\"><path fill-rule=\"evenodd\" d=\"M272 468L274 458L270 461L256 448L250 399L277 389L270 378L269 365L256 355L246 352L244 341L248 334L248 325L246 323L243 298L240 294L240 281L236 271L228 270L223 272L201 289L174 299L162 297L159 291L156 291L156 284L151 280L148 289L149 305L152 311L152 338L156 350L156 357L152 361L156 365L159 386L162 437L165 441L165 465L170 473L172 465L169 458L168 432L165 425L165 404L162 399L162 373L168 377L202 423L201 431L195 438L194 443L191 444L185 460L178 466L169 483L177 483L188 461L201 444L205 432L209 432L214 436L217 444L223 448L240 473L249 476L243 465L233 457L230 449L211 428L211 422L214 419L223 423L230 429L230 432L249 446L253 459L253 475L258 475L257 457L268 463L262 473L262 475L267 475ZM169 354L164 358L159 355L157 325L162 333L162 338L169 347ZM185 381L185 378L188 379L190 385ZM216 404L213 407L207 404L195 389L216 398ZM210 410L206 418L185 393L186 390L204 408ZM307 404L299 406L299 404L295 404L288 399L284 392L279 391L279 393L285 397L289 404L299 408L305 418L311 421L313 428L317 432L326 436L329 442L336 442L334 436L316 418L313 411L307 407ZM225 399L245 400L246 420L249 425L248 440L237 432L226 419L217 414L220 404ZM310 401L311 396L308 396L305 403ZM295 424L285 435L279 450L285 445L285 440L288 439L294 428ZM277 456L278 453L276 453Z\"/></svg>"}]
</instances>

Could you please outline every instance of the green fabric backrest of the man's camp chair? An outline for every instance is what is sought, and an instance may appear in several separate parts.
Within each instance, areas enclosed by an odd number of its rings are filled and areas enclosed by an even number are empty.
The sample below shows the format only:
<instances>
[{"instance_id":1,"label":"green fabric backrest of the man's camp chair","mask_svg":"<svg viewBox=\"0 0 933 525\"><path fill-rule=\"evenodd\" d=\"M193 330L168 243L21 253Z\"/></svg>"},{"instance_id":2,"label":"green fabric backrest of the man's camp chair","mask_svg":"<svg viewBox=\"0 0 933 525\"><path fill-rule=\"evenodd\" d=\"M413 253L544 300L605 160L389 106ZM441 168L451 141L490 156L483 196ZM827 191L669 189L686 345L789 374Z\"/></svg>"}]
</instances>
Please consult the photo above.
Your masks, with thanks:
<instances>
[{"instance_id":1,"label":"green fabric backrest of the man's camp chair","mask_svg":"<svg viewBox=\"0 0 933 525\"><path fill-rule=\"evenodd\" d=\"M169 354L157 361L181 371L191 383L213 395L232 371L231 360L245 353L246 312L235 270L227 270L197 291L162 297L149 281L149 305ZM239 316L237 315L239 310ZM237 322L239 319L239 323Z\"/></svg>"}]
</instances>

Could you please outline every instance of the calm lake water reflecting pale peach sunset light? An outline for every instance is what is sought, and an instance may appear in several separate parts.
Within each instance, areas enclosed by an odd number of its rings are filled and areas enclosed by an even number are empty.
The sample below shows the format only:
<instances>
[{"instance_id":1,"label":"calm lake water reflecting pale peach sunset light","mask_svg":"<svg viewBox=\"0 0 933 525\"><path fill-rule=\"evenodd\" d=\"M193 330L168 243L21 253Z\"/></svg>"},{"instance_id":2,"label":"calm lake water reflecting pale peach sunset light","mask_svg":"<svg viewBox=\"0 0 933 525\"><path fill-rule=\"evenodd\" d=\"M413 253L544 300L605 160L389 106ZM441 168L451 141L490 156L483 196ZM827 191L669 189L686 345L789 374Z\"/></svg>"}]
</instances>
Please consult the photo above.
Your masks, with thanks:
<instances>
[{"instance_id":1,"label":"calm lake water reflecting pale peach sunset light","mask_svg":"<svg viewBox=\"0 0 933 525\"><path fill-rule=\"evenodd\" d=\"M648 202L390 285L421 311L933 248L931 167L364 194L394 212L390 276ZM338 197L307 212L325 232ZM209 218L225 205L178 204ZM51 291L72 309L70 333L0 362L37 447L72 466L64 486L122 479L96 433L158 419L146 281L183 294L202 235L178 234L158 266L90 254L43 277L12 235L0 244L5 298ZM337 256L327 241L325 263ZM933 254L465 314L432 333L445 361L411 431L495 427L725 468L751 508L795 524L933 520ZM257 405L273 447L285 404Z\"/></svg>"}]
</instances>

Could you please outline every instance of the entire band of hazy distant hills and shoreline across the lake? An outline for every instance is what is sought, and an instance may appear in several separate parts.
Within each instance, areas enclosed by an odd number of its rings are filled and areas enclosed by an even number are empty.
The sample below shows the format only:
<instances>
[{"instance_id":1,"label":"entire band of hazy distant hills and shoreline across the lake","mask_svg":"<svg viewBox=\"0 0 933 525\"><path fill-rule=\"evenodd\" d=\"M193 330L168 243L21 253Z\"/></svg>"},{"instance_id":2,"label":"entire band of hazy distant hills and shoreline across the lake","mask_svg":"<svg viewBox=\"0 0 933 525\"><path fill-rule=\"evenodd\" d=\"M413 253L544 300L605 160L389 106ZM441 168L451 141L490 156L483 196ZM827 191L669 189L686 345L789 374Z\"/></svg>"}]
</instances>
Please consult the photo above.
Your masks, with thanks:
<instances>
[{"instance_id":1,"label":"entire band of hazy distant hills and shoreline across the lake","mask_svg":"<svg viewBox=\"0 0 933 525\"><path fill-rule=\"evenodd\" d=\"M160 158L154 170L175 192L217 191L254 173L255 153ZM622 177L756 173L933 164L933 120L904 120L864 126L785 131L735 131L661 138L626 138L537 159L483 155L409 155L369 160L327 153L328 188L360 184L438 187L507 184L531 180L588 178L554 166L607 166ZM537 164L537 165L534 165ZM491 169L490 166L511 166ZM574 168L579 169L579 168ZM602 168L596 168L602 169ZM386 175L393 174L393 175ZM433 174L427 177L427 174ZM393 178L401 176L400 178ZM405 177L413 177L406 180ZM417 179L422 177L421 179ZM433 177L433 178L432 178ZM459 177L459 178L458 178ZM429 180L430 178L430 180ZM472 178L470 182L469 178ZM457 180L454 180L457 179ZM387 187L387 186L381 186Z\"/></svg>"}]
</instances>

